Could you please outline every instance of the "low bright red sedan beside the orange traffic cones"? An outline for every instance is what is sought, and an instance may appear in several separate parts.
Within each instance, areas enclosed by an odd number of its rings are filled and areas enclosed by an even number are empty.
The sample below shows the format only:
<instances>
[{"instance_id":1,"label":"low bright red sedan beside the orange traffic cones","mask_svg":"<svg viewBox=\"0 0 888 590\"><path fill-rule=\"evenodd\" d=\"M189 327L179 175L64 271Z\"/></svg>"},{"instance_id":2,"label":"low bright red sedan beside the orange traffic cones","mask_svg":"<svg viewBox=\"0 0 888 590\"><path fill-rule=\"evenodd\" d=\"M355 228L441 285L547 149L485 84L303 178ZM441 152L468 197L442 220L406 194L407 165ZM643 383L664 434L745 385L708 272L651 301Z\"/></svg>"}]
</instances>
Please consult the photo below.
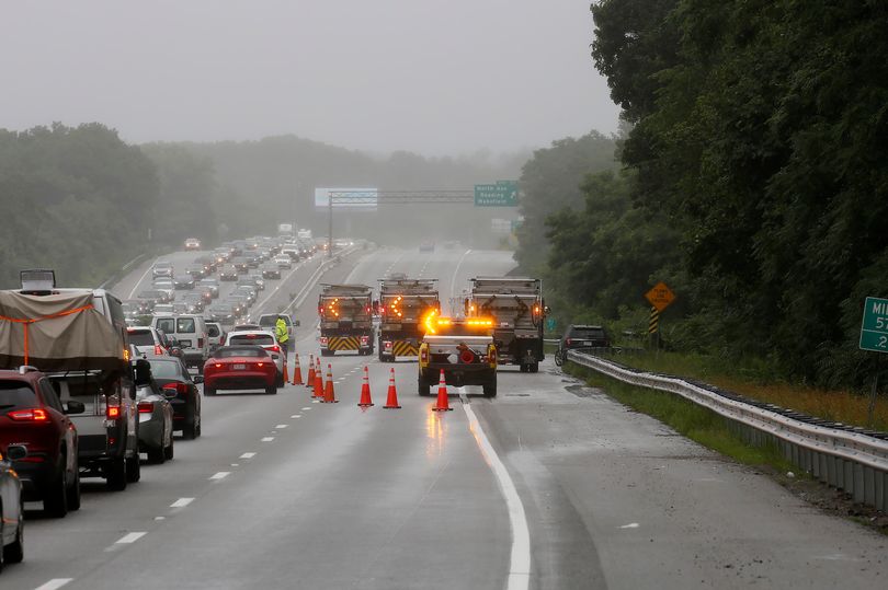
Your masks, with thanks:
<instances>
[{"instance_id":1,"label":"low bright red sedan beside the orange traffic cones","mask_svg":"<svg viewBox=\"0 0 888 590\"><path fill-rule=\"evenodd\" d=\"M277 367L261 346L223 346L204 363L204 395L218 390L258 390L277 393Z\"/></svg>"}]
</instances>

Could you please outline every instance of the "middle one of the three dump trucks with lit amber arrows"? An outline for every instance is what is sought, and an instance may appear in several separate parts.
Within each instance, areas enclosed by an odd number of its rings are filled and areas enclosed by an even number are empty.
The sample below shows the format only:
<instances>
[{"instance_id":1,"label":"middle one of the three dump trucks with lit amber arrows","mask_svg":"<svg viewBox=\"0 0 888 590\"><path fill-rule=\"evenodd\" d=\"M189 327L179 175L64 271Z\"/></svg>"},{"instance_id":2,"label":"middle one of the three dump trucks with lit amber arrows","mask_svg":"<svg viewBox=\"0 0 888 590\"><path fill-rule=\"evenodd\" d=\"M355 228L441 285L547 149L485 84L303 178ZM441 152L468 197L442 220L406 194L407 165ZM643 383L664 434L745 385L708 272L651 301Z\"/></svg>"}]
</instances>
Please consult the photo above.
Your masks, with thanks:
<instances>
[{"instance_id":1,"label":"middle one of the three dump trucks with lit amber arrows","mask_svg":"<svg viewBox=\"0 0 888 590\"><path fill-rule=\"evenodd\" d=\"M379 315L379 360L415 357L425 333L423 321L431 312L441 312L437 279L379 279L375 308Z\"/></svg>"}]
</instances>

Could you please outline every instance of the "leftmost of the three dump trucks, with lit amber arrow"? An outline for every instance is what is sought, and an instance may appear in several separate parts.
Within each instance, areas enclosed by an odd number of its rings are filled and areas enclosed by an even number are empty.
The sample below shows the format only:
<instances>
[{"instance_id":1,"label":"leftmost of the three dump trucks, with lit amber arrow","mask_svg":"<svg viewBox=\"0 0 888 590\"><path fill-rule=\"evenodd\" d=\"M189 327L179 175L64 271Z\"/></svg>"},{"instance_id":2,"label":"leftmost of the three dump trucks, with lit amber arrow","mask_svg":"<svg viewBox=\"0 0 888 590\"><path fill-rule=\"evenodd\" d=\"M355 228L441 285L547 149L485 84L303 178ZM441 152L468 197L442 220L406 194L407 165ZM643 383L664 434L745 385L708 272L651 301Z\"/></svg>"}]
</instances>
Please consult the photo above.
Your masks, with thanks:
<instances>
[{"instance_id":1,"label":"leftmost of the three dump trucks, with lit amber arrow","mask_svg":"<svg viewBox=\"0 0 888 590\"><path fill-rule=\"evenodd\" d=\"M355 350L372 355L373 289L366 285L321 285L318 297L321 356Z\"/></svg>"}]
</instances>

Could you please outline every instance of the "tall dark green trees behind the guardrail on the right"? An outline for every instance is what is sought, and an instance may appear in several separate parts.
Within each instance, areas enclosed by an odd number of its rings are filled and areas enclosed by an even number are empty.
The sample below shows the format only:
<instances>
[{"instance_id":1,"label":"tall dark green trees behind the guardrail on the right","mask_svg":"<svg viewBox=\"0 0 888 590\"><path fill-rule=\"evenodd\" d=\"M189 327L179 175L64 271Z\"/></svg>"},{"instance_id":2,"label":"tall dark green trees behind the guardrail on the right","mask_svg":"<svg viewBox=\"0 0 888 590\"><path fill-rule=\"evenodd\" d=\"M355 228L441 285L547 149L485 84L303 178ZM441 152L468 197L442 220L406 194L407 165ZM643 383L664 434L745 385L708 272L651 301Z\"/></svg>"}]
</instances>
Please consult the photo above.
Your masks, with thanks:
<instances>
[{"instance_id":1,"label":"tall dark green trees behind the guardrail on the right","mask_svg":"<svg viewBox=\"0 0 888 590\"><path fill-rule=\"evenodd\" d=\"M863 299L888 296L888 4L591 11L626 134L618 169L589 170L570 209L536 216L558 302L640 324L663 280L679 294L669 346L859 384L874 362L856 347Z\"/></svg>"}]
</instances>

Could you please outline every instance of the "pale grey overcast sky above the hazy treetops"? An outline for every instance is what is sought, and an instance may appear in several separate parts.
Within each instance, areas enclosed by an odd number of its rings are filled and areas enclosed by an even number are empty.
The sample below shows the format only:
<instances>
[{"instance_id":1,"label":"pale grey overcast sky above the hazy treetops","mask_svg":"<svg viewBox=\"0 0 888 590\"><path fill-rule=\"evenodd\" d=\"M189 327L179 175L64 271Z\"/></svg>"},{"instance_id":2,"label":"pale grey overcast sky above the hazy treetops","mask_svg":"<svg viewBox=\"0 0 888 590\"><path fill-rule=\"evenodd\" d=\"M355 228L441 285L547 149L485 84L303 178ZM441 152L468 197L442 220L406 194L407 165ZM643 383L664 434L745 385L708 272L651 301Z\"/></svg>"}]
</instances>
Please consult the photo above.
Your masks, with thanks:
<instances>
[{"instance_id":1,"label":"pale grey overcast sky above the hazy treetops","mask_svg":"<svg viewBox=\"0 0 888 590\"><path fill-rule=\"evenodd\" d=\"M589 0L2 2L0 127L424 154L616 130Z\"/></svg>"}]
</instances>

